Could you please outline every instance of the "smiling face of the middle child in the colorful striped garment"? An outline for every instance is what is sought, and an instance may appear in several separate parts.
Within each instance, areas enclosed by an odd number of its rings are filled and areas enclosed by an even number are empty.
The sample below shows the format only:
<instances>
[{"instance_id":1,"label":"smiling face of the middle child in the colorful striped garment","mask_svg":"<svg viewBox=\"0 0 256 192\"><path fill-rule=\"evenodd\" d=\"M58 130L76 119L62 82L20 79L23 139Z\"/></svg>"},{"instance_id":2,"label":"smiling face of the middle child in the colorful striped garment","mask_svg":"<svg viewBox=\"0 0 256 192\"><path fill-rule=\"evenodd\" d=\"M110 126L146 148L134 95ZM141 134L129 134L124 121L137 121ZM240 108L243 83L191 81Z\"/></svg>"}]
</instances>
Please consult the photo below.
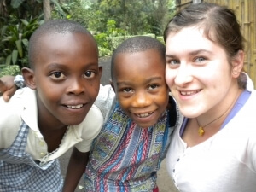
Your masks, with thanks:
<instances>
[{"instance_id":1,"label":"smiling face of the middle child in the colorful striped garment","mask_svg":"<svg viewBox=\"0 0 256 192\"><path fill-rule=\"evenodd\" d=\"M166 61L154 49L116 56L113 85L124 112L141 127L154 125L166 110Z\"/></svg>"}]
</instances>

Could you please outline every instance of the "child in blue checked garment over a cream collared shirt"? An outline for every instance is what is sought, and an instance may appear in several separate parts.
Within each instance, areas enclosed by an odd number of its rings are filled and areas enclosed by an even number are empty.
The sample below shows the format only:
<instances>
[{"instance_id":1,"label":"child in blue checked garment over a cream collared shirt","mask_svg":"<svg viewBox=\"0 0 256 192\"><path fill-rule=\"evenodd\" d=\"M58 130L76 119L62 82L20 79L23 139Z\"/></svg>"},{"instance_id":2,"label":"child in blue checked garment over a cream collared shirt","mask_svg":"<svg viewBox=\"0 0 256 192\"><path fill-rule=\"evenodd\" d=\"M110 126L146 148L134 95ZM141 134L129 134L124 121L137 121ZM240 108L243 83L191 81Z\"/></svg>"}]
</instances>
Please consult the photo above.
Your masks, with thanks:
<instances>
[{"instance_id":1,"label":"child in blue checked garment over a cream collared shirt","mask_svg":"<svg viewBox=\"0 0 256 192\"><path fill-rule=\"evenodd\" d=\"M70 164L81 176L103 123L93 105L102 74L96 41L78 23L50 20L32 34L28 55L27 87L9 102L0 97L0 191L62 191L57 158L75 146Z\"/></svg>"}]
</instances>

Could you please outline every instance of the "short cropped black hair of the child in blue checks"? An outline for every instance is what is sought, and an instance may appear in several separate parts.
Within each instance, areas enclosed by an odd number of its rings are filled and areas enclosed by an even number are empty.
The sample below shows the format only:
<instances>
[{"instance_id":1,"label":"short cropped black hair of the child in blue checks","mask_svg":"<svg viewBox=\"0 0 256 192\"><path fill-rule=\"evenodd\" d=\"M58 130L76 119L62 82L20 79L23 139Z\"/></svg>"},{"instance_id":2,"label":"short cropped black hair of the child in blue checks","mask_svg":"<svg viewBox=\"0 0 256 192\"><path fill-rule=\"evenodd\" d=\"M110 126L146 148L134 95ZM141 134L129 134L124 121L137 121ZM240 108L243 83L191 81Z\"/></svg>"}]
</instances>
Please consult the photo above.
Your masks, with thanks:
<instances>
[{"instance_id":1,"label":"short cropped black hair of the child in blue checks","mask_svg":"<svg viewBox=\"0 0 256 192\"><path fill-rule=\"evenodd\" d=\"M34 67L36 57L40 49L40 38L51 34L83 33L89 35L94 41L95 38L91 33L73 20L48 20L33 32L28 44L28 61L30 67ZM96 41L95 41L96 43ZM96 46L97 49L97 46Z\"/></svg>"}]
</instances>

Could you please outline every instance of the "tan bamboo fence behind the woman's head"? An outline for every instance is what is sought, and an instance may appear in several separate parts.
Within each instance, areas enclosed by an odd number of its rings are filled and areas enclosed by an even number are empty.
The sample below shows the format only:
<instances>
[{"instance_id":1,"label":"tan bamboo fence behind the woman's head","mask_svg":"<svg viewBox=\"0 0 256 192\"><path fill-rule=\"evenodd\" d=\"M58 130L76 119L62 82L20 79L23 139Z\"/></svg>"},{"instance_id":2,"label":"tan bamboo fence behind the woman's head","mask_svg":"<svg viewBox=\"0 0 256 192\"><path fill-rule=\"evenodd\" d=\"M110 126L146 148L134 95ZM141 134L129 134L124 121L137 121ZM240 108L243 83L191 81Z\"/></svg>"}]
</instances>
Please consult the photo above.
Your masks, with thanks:
<instances>
[{"instance_id":1,"label":"tan bamboo fence behind the woman's head","mask_svg":"<svg viewBox=\"0 0 256 192\"><path fill-rule=\"evenodd\" d=\"M241 25L241 32L246 39L244 68L256 87L256 0L176 0L177 10L193 2L217 3L235 10L237 20Z\"/></svg>"}]
</instances>

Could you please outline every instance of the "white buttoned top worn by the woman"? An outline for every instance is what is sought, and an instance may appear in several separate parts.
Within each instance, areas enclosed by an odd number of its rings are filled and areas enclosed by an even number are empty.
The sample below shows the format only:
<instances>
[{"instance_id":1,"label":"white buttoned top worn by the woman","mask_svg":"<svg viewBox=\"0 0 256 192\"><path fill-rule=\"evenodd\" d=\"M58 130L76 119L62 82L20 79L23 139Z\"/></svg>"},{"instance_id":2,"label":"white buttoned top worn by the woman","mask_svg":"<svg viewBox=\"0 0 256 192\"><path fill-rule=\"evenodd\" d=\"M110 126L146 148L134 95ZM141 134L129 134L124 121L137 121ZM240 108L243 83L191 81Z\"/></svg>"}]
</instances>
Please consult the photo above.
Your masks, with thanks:
<instances>
[{"instance_id":1,"label":"white buttoned top worn by the woman","mask_svg":"<svg viewBox=\"0 0 256 192\"><path fill-rule=\"evenodd\" d=\"M187 148L180 127L172 136L167 170L183 192L256 191L256 90L218 133Z\"/></svg>"}]
</instances>

